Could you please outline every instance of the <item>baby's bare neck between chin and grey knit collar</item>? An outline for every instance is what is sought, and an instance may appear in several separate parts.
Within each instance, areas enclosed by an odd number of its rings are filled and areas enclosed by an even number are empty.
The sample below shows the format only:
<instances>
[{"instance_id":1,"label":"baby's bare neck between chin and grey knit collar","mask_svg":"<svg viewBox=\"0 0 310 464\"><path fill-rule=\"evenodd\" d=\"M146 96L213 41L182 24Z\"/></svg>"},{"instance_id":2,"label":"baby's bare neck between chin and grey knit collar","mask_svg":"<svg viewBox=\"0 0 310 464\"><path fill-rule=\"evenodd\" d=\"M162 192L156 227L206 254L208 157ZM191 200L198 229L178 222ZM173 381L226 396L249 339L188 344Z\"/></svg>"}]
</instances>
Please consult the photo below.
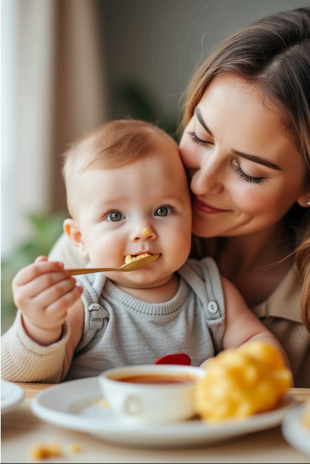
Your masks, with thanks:
<instances>
[{"instance_id":1,"label":"baby's bare neck between chin and grey knit collar","mask_svg":"<svg viewBox=\"0 0 310 464\"><path fill-rule=\"evenodd\" d=\"M118 283L113 282L116 287L118 287L122 291L126 291L126 294L137 298L137 300L142 300L147 303L166 303L173 299L173 297L177 294L179 289L179 276L177 274L173 274L170 280L166 281L163 284L154 285L154 287L148 288L133 288L133 287L125 287L124 285L120 285Z\"/></svg>"}]
</instances>

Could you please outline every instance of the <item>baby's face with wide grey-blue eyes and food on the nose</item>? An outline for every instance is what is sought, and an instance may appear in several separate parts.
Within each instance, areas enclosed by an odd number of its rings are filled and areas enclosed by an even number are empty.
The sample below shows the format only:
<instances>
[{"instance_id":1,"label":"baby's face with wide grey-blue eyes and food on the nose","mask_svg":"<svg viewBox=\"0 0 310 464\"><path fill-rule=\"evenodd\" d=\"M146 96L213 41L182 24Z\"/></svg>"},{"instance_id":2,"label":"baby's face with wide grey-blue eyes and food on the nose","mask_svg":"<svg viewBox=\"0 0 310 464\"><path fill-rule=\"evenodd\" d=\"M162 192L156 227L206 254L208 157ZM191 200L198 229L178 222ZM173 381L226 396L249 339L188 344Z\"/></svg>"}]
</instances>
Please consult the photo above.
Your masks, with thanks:
<instances>
[{"instance_id":1,"label":"baby's face with wide grey-blue eyes and food on the nose","mask_svg":"<svg viewBox=\"0 0 310 464\"><path fill-rule=\"evenodd\" d=\"M122 266L126 254L161 254L143 269L105 273L111 280L154 287L188 258L190 194L176 148L157 148L122 168L86 170L75 190L76 219L94 266Z\"/></svg>"}]
</instances>

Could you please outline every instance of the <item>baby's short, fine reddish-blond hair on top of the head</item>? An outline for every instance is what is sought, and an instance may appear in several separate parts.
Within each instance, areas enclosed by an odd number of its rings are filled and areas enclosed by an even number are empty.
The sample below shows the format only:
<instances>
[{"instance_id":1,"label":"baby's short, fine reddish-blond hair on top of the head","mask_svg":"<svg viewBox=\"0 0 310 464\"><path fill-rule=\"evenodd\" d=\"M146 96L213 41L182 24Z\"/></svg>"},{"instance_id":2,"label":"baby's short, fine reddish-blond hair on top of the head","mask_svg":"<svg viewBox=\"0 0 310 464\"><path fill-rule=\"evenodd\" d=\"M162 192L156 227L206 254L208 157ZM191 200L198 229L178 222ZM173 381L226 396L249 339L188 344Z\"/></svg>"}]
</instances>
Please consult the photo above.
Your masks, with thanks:
<instances>
[{"instance_id":1,"label":"baby's short, fine reddish-blond hair on top of the head","mask_svg":"<svg viewBox=\"0 0 310 464\"><path fill-rule=\"evenodd\" d=\"M113 120L71 144L63 154L63 177L90 169L114 169L132 164L165 142L177 143L159 127L140 120Z\"/></svg>"}]
</instances>

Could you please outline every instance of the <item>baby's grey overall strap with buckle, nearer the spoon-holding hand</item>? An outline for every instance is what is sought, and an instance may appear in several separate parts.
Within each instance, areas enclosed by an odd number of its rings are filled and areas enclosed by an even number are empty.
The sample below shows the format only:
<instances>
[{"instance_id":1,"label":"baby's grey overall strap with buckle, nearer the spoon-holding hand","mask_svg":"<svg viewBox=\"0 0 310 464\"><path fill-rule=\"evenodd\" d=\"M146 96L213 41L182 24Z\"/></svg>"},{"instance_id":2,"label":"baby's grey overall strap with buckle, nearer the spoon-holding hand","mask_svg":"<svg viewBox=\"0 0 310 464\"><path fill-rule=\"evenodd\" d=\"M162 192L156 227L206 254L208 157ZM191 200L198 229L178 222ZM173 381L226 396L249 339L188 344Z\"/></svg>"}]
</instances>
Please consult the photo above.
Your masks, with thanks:
<instances>
[{"instance_id":1,"label":"baby's grey overall strap with buckle, nearer the spoon-holding hand","mask_svg":"<svg viewBox=\"0 0 310 464\"><path fill-rule=\"evenodd\" d=\"M82 338L76 351L83 349L93 339L96 331L102 329L104 319L109 318L107 311L99 304L99 298L104 287L105 276L96 274L84 274L76 277L83 287L82 302L84 303L84 329Z\"/></svg>"}]
</instances>

